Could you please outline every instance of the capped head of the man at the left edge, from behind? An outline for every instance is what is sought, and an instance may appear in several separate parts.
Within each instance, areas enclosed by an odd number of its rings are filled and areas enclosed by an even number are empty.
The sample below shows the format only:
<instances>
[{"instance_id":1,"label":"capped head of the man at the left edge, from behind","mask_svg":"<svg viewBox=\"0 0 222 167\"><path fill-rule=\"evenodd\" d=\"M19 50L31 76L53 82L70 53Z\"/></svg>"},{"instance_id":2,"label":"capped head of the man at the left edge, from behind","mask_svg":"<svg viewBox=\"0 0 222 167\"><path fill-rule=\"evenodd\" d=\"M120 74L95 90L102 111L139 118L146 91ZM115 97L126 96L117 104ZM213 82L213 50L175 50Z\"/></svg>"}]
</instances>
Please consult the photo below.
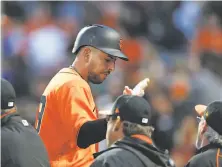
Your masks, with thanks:
<instances>
[{"instance_id":1,"label":"capped head of the man at the left edge, from behind","mask_svg":"<svg viewBox=\"0 0 222 167\"><path fill-rule=\"evenodd\" d=\"M16 94L13 86L1 78L1 119L16 111Z\"/></svg>"}]
</instances>

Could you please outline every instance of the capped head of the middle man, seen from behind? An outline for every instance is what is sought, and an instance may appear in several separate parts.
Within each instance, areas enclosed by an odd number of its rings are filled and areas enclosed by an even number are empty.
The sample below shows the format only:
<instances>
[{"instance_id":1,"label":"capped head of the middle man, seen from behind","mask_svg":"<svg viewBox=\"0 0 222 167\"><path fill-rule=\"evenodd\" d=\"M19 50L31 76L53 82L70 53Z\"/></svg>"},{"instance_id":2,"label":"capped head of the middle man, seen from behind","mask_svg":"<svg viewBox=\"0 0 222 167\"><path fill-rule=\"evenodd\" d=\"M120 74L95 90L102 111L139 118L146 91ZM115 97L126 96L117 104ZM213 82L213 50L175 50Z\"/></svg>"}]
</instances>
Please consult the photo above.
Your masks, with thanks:
<instances>
[{"instance_id":1,"label":"capped head of the middle man, seen from behind","mask_svg":"<svg viewBox=\"0 0 222 167\"><path fill-rule=\"evenodd\" d=\"M124 136L140 134L151 138L154 128L150 119L151 108L144 98L133 95L118 97L111 114L107 115L107 145Z\"/></svg>"}]
</instances>

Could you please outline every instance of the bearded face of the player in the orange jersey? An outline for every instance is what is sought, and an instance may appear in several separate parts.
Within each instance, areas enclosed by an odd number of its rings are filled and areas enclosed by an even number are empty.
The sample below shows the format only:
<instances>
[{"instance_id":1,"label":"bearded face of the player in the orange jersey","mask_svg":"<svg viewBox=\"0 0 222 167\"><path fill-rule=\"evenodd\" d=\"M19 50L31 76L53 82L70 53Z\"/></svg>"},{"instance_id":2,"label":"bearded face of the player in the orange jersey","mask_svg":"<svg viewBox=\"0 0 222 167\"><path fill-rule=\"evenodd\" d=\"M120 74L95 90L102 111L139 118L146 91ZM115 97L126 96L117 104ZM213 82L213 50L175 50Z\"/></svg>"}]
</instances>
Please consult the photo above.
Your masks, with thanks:
<instances>
[{"instance_id":1,"label":"bearded face of the player in the orange jersey","mask_svg":"<svg viewBox=\"0 0 222 167\"><path fill-rule=\"evenodd\" d=\"M92 52L88 68L88 81L93 84L102 83L114 71L115 62L115 57L109 56L100 50Z\"/></svg>"}]
</instances>

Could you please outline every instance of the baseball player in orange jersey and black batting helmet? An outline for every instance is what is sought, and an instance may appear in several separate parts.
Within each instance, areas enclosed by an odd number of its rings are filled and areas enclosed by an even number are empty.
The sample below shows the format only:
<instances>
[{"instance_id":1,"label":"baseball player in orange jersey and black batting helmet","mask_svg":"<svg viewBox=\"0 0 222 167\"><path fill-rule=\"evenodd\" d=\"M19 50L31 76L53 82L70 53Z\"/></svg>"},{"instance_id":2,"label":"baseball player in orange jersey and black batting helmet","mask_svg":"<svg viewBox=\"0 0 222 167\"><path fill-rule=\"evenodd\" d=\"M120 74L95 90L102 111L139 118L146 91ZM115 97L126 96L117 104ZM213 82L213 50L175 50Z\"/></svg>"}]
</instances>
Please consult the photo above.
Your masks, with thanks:
<instances>
[{"instance_id":1,"label":"baseball player in orange jersey and black batting helmet","mask_svg":"<svg viewBox=\"0 0 222 167\"><path fill-rule=\"evenodd\" d=\"M84 167L93 162L97 144L105 139L107 122L97 119L89 82L102 83L115 69L121 52L118 32L103 25L90 25L77 35L72 65L60 70L46 87L35 127L52 167ZM131 89L125 88L125 94Z\"/></svg>"}]
</instances>

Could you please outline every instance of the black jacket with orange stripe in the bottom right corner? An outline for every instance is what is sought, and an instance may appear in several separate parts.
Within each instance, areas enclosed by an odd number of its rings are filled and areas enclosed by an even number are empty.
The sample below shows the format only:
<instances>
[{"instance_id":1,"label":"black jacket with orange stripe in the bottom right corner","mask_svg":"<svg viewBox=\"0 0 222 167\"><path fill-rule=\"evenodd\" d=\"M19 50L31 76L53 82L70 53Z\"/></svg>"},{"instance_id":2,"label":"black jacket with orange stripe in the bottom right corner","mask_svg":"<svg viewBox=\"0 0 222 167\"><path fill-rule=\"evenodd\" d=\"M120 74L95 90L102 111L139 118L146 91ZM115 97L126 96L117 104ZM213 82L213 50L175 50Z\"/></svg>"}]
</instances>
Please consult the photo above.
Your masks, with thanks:
<instances>
[{"instance_id":1,"label":"black jacket with orange stripe in the bottom right corner","mask_svg":"<svg viewBox=\"0 0 222 167\"><path fill-rule=\"evenodd\" d=\"M222 167L222 145L202 147L185 167Z\"/></svg>"}]
</instances>

